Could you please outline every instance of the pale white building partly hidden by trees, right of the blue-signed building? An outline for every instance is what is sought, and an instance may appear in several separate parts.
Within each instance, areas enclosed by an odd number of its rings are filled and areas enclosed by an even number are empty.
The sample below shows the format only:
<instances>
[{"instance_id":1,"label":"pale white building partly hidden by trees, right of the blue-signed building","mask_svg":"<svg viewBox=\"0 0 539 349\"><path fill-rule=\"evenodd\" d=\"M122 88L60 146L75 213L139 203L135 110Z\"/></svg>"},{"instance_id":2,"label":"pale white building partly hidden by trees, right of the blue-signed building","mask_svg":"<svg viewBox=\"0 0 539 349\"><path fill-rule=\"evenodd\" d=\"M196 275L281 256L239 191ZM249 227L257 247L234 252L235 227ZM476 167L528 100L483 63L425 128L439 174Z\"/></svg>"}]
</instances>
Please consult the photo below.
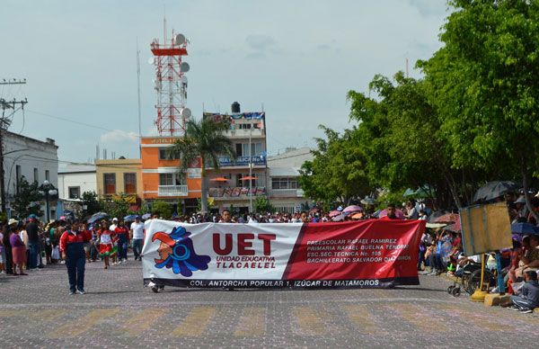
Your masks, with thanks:
<instances>
[{"instance_id":1,"label":"pale white building partly hidden by trees, right of the blue-signed building","mask_svg":"<svg viewBox=\"0 0 539 349\"><path fill-rule=\"evenodd\" d=\"M292 213L310 202L304 197L297 177L305 161L313 159L309 148L287 148L283 154L268 157L269 199L276 210Z\"/></svg>"}]
</instances>

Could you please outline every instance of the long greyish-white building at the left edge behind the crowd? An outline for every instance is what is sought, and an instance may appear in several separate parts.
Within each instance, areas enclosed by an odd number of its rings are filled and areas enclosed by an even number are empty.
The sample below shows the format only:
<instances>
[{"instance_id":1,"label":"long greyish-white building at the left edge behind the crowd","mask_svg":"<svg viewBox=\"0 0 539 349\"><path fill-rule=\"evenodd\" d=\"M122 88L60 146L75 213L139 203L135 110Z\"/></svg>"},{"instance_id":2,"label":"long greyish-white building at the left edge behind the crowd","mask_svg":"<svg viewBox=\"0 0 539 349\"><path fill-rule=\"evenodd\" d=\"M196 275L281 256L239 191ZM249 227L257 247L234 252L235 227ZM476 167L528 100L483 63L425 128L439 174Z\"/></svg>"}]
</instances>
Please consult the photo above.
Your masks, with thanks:
<instances>
[{"instance_id":1,"label":"long greyish-white building at the left edge behind the crowd","mask_svg":"<svg viewBox=\"0 0 539 349\"><path fill-rule=\"evenodd\" d=\"M57 187L58 156L54 139L41 141L10 131L3 132L4 189L6 208L10 210L21 178L29 183L49 181ZM56 201L50 203L50 218L56 217ZM43 203L41 210L45 212ZM47 216L47 214L45 214Z\"/></svg>"}]
</instances>

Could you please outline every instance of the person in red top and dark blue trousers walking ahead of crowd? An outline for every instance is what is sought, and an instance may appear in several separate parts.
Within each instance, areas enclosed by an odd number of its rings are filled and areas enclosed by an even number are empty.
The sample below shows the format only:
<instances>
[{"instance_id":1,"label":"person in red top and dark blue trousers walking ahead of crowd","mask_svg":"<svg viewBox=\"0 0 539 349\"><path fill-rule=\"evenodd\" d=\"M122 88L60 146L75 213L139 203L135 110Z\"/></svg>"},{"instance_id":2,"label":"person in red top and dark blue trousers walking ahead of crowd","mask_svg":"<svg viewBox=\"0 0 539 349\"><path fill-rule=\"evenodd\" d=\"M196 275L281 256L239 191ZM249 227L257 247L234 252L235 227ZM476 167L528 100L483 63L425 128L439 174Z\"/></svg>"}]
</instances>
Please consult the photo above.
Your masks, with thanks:
<instances>
[{"instance_id":1,"label":"person in red top and dark blue trousers walking ahead of crowd","mask_svg":"<svg viewBox=\"0 0 539 349\"><path fill-rule=\"evenodd\" d=\"M86 254L84 253L84 243L92 239L89 231L79 230L80 224L73 223L67 225L66 230L60 237L60 252L66 260L67 277L69 278L69 294L78 291L84 294L84 264Z\"/></svg>"}]
</instances>

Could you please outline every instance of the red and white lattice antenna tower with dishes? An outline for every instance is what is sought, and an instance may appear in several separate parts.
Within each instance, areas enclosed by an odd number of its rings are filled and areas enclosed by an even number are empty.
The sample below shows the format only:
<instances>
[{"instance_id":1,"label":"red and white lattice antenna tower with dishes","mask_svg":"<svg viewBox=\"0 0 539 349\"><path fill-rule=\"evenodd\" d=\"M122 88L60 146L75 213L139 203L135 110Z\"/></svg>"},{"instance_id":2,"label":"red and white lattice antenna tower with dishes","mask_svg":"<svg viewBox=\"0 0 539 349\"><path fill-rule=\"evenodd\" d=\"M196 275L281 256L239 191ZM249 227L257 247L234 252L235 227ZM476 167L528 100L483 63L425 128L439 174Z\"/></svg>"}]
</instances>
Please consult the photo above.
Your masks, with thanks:
<instances>
[{"instance_id":1,"label":"red and white lattice antenna tower with dishes","mask_svg":"<svg viewBox=\"0 0 539 349\"><path fill-rule=\"evenodd\" d=\"M150 44L154 54L155 91L157 92L157 119L155 125L159 135L182 136L185 122L190 118L187 102L187 77L189 64L181 60L187 56L188 40L182 34L174 35L167 43L166 28L164 43L154 39Z\"/></svg>"}]
</instances>

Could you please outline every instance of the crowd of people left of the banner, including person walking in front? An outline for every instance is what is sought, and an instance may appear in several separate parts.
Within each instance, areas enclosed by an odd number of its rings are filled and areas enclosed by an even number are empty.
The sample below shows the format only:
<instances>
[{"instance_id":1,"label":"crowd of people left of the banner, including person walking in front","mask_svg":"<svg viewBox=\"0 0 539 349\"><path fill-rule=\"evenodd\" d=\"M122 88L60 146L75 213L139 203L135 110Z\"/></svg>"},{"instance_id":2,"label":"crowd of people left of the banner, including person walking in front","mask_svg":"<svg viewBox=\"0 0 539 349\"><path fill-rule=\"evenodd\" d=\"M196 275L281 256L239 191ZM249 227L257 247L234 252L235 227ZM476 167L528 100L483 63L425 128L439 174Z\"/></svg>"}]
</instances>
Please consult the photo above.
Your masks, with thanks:
<instances>
[{"instance_id":1,"label":"crowd of people left of the banner, including person walking in front","mask_svg":"<svg viewBox=\"0 0 539 349\"><path fill-rule=\"evenodd\" d=\"M92 225L65 217L44 225L37 216L9 219L0 228L0 273L26 276L53 264L66 264L69 293L84 294L84 264L101 258L104 269L124 264L128 247L135 260L142 260L144 223L137 216L126 225L123 219L102 219Z\"/></svg>"}]
</instances>

